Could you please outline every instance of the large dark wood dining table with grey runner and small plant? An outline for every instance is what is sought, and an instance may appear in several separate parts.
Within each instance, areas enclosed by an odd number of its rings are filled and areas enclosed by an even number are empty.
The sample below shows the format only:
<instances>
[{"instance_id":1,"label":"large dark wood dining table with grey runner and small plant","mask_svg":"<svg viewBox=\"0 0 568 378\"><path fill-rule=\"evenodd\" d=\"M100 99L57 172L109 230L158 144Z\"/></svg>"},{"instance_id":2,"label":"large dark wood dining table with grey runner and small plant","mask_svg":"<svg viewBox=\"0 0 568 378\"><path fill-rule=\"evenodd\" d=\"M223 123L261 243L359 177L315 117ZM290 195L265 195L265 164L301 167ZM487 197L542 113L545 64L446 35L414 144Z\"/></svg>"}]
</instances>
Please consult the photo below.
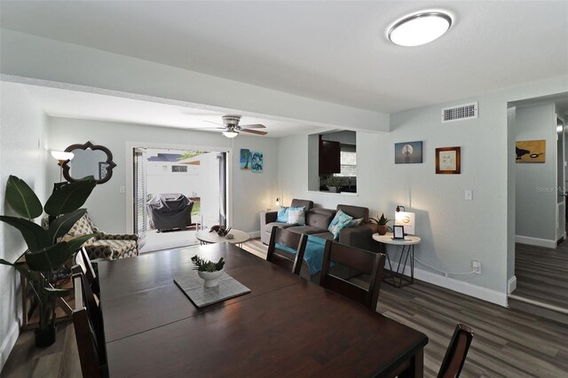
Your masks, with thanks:
<instances>
[{"instance_id":1,"label":"large dark wood dining table with grey runner and small plant","mask_svg":"<svg viewBox=\"0 0 568 378\"><path fill-rule=\"evenodd\" d=\"M250 293L201 309L173 279L225 257ZM422 377L426 335L229 243L99 263L111 377Z\"/></svg>"}]
</instances>

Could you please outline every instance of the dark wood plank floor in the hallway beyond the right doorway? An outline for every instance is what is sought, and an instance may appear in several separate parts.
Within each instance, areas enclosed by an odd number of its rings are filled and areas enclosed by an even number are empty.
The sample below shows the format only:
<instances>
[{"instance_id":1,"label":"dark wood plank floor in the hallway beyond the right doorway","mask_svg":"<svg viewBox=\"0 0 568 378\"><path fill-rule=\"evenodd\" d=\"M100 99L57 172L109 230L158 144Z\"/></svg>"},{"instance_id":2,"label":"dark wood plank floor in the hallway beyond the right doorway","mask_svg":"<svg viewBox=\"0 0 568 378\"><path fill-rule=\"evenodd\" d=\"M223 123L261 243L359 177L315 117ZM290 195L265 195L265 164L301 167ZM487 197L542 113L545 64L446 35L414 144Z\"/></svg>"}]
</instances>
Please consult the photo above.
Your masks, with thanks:
<instances>
[{"instance_id":1,"label":"dark wood plank floor in the hallway beyond the right doorway","mask_svg":"<svg viewBox=\"0 0 568 378\"><path fill-rule=\"evenodd\" d=\"M556 249L517 243L515 275L513 295L568 311L568 241Z\"/></svg>"}]
</instances>

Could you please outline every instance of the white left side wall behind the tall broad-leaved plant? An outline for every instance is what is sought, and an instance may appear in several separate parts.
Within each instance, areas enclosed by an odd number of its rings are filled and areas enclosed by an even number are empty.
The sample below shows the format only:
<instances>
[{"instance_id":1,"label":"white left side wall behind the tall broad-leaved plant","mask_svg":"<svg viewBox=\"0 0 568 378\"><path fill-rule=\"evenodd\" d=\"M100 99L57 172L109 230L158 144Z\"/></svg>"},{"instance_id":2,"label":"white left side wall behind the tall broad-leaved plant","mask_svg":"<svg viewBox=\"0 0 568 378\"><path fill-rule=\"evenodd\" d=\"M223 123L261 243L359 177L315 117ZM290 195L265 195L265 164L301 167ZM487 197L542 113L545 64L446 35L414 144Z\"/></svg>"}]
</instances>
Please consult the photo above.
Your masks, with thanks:
<instances>
[{"instance_id":1,"label":"white left side wall behind the tall broad-leaved plant","mask_svg":"<svg viewBox=\"0 0 568 378\"><path fill-rule=\"evenodd\" d=\"M10 175L24 179L45 202L46 116L20 84L0 82L0 103L0 214L15 216L4 200ZM0 258L14 262L25 250L20 232L0 223ZM0 265L0 370L19 335L20 317L20 274Z\"/></svg>"}]
</instances>

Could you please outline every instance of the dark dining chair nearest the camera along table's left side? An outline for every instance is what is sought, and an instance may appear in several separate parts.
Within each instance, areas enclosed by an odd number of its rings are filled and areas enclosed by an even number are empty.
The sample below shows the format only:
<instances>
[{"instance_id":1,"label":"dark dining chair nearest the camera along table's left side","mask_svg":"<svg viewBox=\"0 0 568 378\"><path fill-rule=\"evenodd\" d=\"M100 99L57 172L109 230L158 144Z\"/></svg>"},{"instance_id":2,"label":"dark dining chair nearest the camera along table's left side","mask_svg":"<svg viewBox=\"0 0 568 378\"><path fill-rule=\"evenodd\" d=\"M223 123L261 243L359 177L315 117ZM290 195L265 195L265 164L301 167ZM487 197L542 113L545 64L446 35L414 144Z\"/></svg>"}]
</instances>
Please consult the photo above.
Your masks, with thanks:
<instances>
[{"instance_id":1,"label":"dark dining chair nearest the camera along table's left side","mask_svg":"<svg viewBox=\"0 0 568 378\"><path fill-rule=\"evenodd\" d=\"M107 376L102 313L83 273L74 273L72 280L75 292L72 318L83 377Z\"/></svg>"}]
</instances>

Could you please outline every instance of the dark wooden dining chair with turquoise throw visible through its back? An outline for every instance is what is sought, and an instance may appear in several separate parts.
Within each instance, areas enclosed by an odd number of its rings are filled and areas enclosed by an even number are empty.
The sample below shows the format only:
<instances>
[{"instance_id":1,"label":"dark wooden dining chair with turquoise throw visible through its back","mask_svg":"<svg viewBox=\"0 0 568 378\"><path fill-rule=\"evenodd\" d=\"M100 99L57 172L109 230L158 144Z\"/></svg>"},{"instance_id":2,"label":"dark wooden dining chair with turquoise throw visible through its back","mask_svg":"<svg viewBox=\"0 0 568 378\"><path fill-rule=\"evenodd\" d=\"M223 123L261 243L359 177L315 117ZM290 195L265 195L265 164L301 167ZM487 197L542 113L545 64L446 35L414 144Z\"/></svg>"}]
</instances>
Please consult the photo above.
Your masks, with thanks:
<instances>
[{"instance_id":1,"label":"dark wooden dining chair with turquoise throw visible through its back","mask_svg":"<svg viewBox=\"0 0 568 378\"><path fill-rule=\"evenodd\" d=\"M266 260L299 275L304 261L307 235L272 227ZM278 245L277 245L278 244ZM296 251L296 253L294 253Z\"/></svg>"}]
</instances>

